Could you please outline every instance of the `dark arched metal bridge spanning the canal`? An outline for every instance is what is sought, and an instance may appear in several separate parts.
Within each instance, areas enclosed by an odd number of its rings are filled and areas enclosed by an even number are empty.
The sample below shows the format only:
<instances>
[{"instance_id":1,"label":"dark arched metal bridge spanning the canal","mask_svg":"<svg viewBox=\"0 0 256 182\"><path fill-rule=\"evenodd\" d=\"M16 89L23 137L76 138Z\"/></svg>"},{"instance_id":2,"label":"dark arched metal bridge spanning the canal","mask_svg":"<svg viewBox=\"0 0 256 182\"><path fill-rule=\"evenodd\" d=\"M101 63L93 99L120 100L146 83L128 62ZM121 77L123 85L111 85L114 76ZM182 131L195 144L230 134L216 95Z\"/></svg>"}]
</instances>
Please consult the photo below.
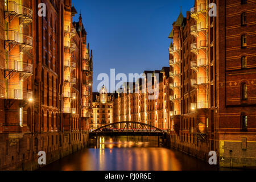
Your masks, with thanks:
<instances>
[{"instance_id":1,"label":"dark arched metal bridge spanning the canal","mask_svg":"<svg viewBox=\"0 0 256 182\"><path fill-rule=\"evenodd\" d=\"M89 136L163 136L165 133L166 131L146 123L123 121L99 127L91 131Z\"/></svg>"}]
</instances>

